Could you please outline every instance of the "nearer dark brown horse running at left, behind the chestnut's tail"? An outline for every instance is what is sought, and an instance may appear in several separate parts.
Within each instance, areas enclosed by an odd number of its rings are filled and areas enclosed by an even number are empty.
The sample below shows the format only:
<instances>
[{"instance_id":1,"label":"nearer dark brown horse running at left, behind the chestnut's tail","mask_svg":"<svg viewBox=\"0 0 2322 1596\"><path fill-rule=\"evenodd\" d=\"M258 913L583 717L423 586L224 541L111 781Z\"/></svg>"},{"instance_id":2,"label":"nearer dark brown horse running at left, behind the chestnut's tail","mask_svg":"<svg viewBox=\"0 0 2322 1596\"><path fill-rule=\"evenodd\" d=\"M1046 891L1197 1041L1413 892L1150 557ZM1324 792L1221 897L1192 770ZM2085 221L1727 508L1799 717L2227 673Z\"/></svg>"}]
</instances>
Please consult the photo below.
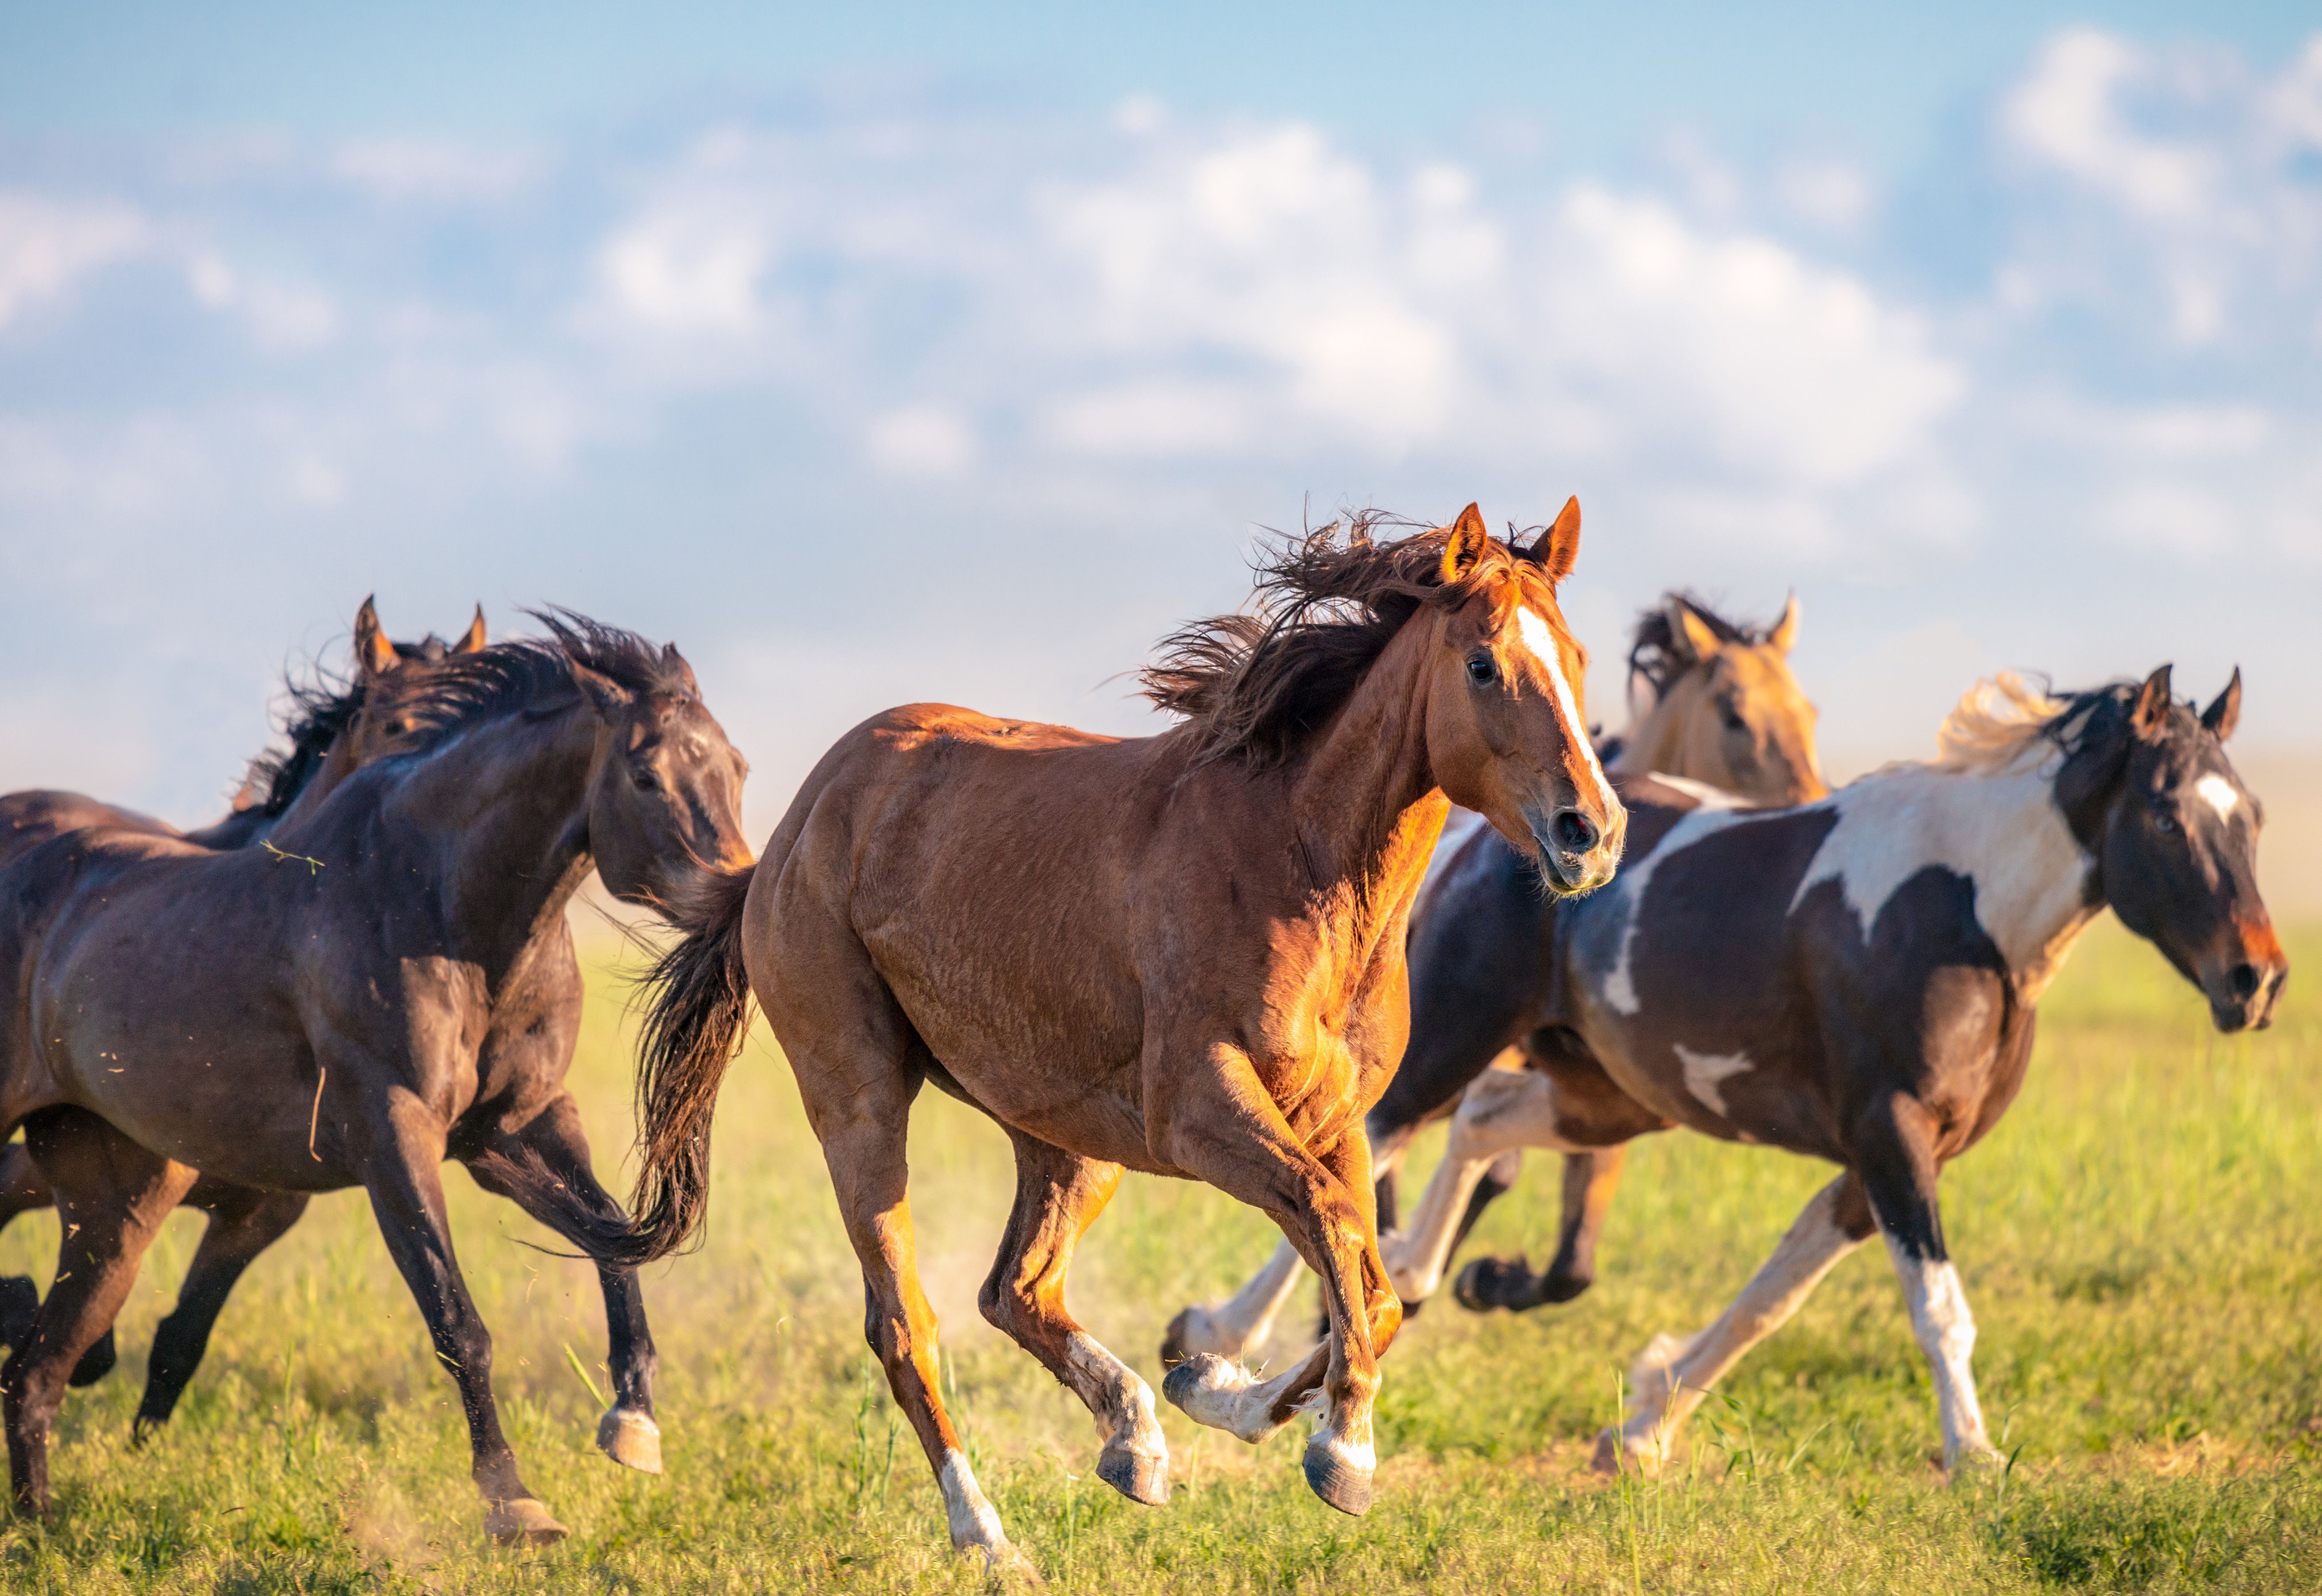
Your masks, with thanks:
<instances>
[{"instance_id":1,"label":"nearer dark brown horse running at left, behind the chestnut's tail","mask_svg":"<svg viewBox=\"0 0 2322 1596\"><path fill-rule=\"evenodd\" d=\"M662 904L750 855L741 755L676 648L546 620L553 639L374 685L362 713L404 746L293 806L279 855L98 827L0 869L0 1124L23 1124L65 1220L56 1285L0 1368L21 1508L46 1508L65 1375L202 1171L365 1187L460 1387L485 1529L564 1533L502 1433L439 1166L564 1236L620 1224L562 1085L580 983L564 906L592 867ZM643 1336L634 1278L606 1296L620 1352Z\"/></svg>"}]
</instances>

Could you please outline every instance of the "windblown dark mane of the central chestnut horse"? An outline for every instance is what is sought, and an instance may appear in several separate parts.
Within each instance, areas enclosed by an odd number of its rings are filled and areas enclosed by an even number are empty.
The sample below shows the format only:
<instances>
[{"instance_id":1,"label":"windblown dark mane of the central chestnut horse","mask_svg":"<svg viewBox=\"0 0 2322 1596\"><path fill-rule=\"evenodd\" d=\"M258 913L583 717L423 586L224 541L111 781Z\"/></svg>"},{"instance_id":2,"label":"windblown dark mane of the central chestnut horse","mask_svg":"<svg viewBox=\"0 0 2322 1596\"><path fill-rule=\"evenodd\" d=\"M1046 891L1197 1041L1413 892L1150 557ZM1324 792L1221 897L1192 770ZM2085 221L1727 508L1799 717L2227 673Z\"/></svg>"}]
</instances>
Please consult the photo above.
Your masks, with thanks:
<instances>
[{"instance_id":1,"label":"windblown dark mane of the central chestnut horse","mask_svg":"<svg viewBox=\"0 0 2322 1596\"><path fill-rule=\"evenodd\" d=\"M1254 609L1163 637L1156 660L1138 671L1145 697L1187 718L1203 764L1279 764L1347 702L1421 606L1456 609L1528 569L1491 541L1461 581L1444 583L1449 527L1375 537L1414 525L1361 511L1279 534L1256 567Z\"/></svg>"}]
</instances>

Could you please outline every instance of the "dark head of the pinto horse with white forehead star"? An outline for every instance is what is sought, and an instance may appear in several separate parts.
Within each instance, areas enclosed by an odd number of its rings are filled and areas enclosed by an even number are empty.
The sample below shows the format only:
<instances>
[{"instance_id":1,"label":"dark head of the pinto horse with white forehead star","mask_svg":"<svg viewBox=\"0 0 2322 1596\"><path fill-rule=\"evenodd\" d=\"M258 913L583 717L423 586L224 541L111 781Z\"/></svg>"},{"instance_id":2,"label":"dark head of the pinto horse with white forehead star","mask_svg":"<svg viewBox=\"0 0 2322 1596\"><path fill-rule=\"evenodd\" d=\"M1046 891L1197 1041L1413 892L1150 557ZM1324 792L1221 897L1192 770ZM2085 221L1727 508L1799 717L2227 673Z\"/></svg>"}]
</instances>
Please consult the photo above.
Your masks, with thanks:
<instances>
[{"instance_id":1,"label":"dark head of the pinto horse with white forehead star","mask_svg":"<svg viewBox=\"0 0 2322 1596\"><path fill-rule=\"evenodd\" d=\"M2271 1025L2289 976L2257 894L2264 808L2224 757L2238 718L2241 671L2199 720L2155 671L2101 832L2113 913L2201 987L2220 1031Z\"/></svg>"}]
</instances>

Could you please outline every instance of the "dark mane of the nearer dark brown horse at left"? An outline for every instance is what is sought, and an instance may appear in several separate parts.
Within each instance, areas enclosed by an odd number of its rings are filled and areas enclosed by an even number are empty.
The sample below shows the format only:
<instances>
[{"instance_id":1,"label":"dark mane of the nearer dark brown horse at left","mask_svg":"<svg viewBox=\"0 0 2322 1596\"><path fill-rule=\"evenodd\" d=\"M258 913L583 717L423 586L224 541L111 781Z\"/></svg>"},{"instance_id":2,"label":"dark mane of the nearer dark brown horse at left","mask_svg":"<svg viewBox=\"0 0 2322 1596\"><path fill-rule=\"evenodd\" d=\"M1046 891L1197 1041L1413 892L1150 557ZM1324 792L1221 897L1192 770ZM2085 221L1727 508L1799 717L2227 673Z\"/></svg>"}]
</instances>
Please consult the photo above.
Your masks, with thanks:
<instances>
[{"instance_id":1,"label":"dark mane of the nearer dark brown horse at left","mask_svg":"<svg viewBox=\"0 0 2322 1596\"><path fill-rule=\"evenodd\" d=\"M676 692L699 697L694 674L676 648L655 648L636 632L608 627L569 609L527 611L550 637L515 637L444 664L388 676L381 692L404 720L404 753L427 753L483 720L543 709L578 692L574 664L611 678L629 692Z\"/></svg>"}]
</instances>

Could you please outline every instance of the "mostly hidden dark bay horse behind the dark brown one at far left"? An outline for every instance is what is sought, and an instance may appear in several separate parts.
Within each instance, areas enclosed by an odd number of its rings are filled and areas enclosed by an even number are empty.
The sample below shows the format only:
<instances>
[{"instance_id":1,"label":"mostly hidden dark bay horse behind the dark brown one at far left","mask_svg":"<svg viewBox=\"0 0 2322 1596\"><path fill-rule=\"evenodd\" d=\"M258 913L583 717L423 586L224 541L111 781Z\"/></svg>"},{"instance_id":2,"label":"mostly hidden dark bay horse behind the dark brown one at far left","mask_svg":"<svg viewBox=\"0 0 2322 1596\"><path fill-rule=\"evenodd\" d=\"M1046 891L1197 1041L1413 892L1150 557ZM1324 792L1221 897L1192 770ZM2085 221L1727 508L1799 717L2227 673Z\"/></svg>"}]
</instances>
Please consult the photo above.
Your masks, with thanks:
<instances>
[{"instance_id":1,"label":"mostly hidden dark bay horse behind the dark brown one at far left","mask_svg":"<svg viewBox=\"0 0 2322 1596\"><path fill-rule=\"evenodd\" d=\"M485 644L483 606L476 620L455 641L444 641L434 632L416 644L402 644L378 625L378 606L372 599L355 611L353 655L355 674L346 688L293 685L288 746L279 753L262 753L251 760L235 808L223 820L183 832L186 841L204 848L248 848L281 825L293 804L320 801L346 776L388 753L397 741L397 729L385 716L365 716L367 692L388 674L430 671L444 660L476 653ZM12 792L0 797L0 864L35 843L63 832L107 827L149 829L158 836L179 836L160 820L137 811L81 797L79 792ZM33 1152L21 1143L0 1148L0 1227L33 1208L49 1208L56 1194L33 1164ZM165 1424L183 1396L186 1382L202 1361L209 1331L225 1308L228 1294L241 1271L283 1236L307 1210L304 1192L244 1192L221 1180L195 1180L186 1194L188 1208L207 1215L202 1243L186 1271L176 1310L153 1331L153 1357L146 1368L144 1401L137 1406L135 1433L142 1438L156 1424ZM0 1278L0 1345L19 1347L39 1313L39 1294L26 1275ZM72 1385L91 1385L111 1373L114 1333L102 1338L72 1371Z\"/></svg>"}]
</instances>

